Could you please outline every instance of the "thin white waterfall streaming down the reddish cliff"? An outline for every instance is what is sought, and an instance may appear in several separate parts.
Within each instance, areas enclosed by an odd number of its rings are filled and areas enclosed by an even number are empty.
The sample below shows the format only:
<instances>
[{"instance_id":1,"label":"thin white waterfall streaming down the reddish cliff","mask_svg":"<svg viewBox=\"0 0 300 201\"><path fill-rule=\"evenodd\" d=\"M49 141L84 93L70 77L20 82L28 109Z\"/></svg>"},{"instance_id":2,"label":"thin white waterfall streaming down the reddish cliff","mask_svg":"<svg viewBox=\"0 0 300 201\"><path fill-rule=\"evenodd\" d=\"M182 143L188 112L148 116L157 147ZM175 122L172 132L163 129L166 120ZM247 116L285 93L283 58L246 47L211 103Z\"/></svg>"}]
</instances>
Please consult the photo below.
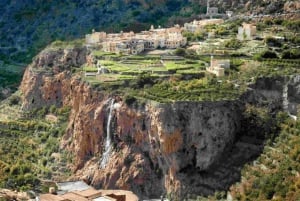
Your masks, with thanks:
<instances>
[{"instance_id":1,"label":"thin white waterfall streaming down the reddish cliff","mask_svg":"<svg viewBox=\"0 0 300 201\"><path fill-rule=\"evenodd\" d=\"M105 141L105 149L104 153L102 155L102 159L100 162L100 168L105 168L108 160L109 160L109 155L112 149L112 144L111 144L111 132L110 132L110 124L111 124L111 119L112 119L112 113L114 109L114 99L110 100L110 105L109 105L109 113L108 113L108 119L107 119L107 124L106 124L106 141Z\"/></svg>"}]
</instances>

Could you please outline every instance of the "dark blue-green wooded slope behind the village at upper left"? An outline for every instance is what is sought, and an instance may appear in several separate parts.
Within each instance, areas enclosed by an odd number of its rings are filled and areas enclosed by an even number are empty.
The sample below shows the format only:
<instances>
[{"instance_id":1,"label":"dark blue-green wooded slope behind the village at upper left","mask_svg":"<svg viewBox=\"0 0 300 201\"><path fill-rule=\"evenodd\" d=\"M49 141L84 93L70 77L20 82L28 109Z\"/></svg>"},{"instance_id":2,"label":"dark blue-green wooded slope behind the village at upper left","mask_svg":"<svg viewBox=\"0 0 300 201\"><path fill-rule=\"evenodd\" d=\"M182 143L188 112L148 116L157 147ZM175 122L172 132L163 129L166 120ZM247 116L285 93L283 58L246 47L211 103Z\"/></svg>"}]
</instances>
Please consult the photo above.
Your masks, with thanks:
<instances>
[{"instance_id":1,"label":"dark blue-green wooded slope behind the village at upper left","mask_svg":"<svg viewBox=\"0 0 300 201\"><path fill-rule=\"evenodd\" d=\"M82 37L94 28L148 28L149 23L164 23L164 19L189 4L187 0L1 1L0 53L24 62L50 41Z\"/></svg>"}]
</instances>

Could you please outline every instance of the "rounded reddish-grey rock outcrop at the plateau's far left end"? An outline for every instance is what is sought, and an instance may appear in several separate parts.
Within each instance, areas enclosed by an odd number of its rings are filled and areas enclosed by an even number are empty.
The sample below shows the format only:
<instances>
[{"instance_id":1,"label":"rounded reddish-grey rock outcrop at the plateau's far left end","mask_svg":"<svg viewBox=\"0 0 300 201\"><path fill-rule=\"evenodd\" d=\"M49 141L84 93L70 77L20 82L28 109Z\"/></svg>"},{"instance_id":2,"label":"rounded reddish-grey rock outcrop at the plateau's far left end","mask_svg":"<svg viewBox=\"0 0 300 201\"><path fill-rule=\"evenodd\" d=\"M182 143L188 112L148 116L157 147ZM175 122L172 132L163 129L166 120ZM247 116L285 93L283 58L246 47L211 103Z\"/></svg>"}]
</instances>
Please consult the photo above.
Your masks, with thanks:
<instances>
[{"instance_id":1,"label":"rounded reddish-grey rock outcrop at the plateau's far left end","mask_svg":"<svg viewBox=\"0 0 300 201\"><path fill-rule=\"evenodd\" d=\"M71 81L71 67L80 67L86 62L86 49L72 48L44 50L26 69L20 90L23 93L23 109L64 105L67 97L77 87ZM65 103L67 104L67 103Z\"/></svg>"}]
</instances>

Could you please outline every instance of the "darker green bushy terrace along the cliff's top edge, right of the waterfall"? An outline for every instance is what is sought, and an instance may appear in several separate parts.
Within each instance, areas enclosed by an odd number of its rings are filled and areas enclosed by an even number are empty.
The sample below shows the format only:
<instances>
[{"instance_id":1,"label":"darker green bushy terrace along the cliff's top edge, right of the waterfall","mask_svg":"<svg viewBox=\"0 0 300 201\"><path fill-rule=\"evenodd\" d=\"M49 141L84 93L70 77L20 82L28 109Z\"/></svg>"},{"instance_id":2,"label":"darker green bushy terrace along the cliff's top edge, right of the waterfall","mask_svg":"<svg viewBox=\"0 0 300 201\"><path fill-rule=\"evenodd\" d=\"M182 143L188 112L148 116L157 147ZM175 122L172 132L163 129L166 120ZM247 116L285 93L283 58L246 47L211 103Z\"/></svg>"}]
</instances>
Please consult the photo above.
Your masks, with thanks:
<instances>
[{"instance_id":1,"label":"darker green bushy terrace along the cliff's top edge, right of the waterfall","mask_svg":"<svg viewBox=\"0 0 300 201\"><path fill-rule=\"evenodd\" d=\"M217 81L211 76L189 81L180 81L173 77L171 81L157 83L142 90L132 90L130 93L136 98L167 103L175 101L234 100L244 92L243 89L237 88L233 83L225 80Z\"/></svg>"}]
</instances>

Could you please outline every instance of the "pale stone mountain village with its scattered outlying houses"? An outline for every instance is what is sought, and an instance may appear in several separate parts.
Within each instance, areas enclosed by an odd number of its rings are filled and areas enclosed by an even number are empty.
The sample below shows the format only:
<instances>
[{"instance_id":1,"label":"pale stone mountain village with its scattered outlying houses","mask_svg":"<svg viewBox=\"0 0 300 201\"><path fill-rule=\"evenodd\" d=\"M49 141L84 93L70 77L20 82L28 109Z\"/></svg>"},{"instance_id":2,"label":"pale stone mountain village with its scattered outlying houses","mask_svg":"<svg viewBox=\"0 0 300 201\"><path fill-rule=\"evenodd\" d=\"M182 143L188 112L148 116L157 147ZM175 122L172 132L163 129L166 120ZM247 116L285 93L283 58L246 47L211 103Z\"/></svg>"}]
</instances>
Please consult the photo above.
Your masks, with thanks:
<instances>
[{"instance_id":1,"label":"pale stone mountain village with its scattered outlying houses","mask_svg":"<svg viewBox=\"0 0 300 201\"><path fill-rule=\"evenodd\" d=\"M213 16L231 18L232 12L226 11L226 14L219 14L218 8L210 7L208 1L206 17L208 17L209 19L193 20L192 22L185 23L182 27L177 24L169 28L162 28L161 26L155 28L152 25L149 30L142 31L140 33L134 33L132 31L121 31L120 33L106 33L96 32L95 30L93 30L91 34L86 35L85 42L86 46L90 49L96 49L107 53L115 53L123 56L139 55L153 50L176 50L178 48L187 47L188 45L187 37L183 35L184 32L199 33L206 26L221 25L224 23L224 20L222 18L213 18ZM215 38L214 35L214 32L209 32L208 38ZM242 26L238 28L238 33L236 36L238 40L253 40L255 37L255 25L243 23ZM216 49L218 49L218 47ZM159 66L163 66L163 58L166 58L166 51L161 52L162 59L160 63L162 65ZM211 55L211 60L209 63L206 64L206 71L216 75L217 77L224 76L225 70L230 69L230 60L215 59L213 56L213 50L211 50L209 54ZM167 57L168 60L178 59L178 57L176 56ZM96 63L90 63L92 66L97 66L96 74L99 75L103 72L109 72L105 65L101 64L101 62ZM87 72L85 74L87 76L96 75L95 73Z\"/></svg>"}]
</instances>

